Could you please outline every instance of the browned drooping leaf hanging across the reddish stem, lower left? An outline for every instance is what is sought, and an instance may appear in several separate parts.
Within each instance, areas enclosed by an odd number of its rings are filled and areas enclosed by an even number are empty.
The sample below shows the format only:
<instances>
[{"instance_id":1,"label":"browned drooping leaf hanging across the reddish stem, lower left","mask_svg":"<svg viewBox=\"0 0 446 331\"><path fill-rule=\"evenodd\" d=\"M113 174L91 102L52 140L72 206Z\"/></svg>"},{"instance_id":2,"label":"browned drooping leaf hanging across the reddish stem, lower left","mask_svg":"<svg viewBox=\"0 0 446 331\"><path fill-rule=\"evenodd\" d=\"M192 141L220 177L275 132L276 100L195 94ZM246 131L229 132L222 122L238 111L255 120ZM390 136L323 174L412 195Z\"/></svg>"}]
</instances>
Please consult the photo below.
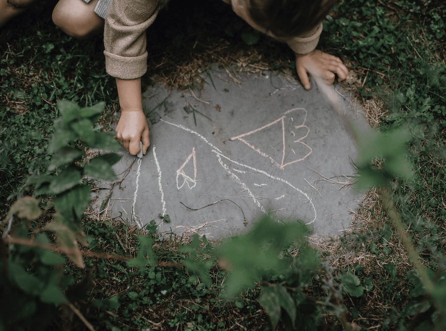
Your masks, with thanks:
<instances>
[{"instance_id":1,"label":"browned drooping leaf hanging across the reddish stem, lower left","mask_svg":"<svg viewBox=\"0 0 446 331\"><path fill-rule=\"evenodd\" d=\"M85 264L82 259L82 252L76 241L76 239L79 237L77 232L80 230L74 231L71 226L69 226L69 222L67 222L58 213L56 213L53 220L45 226L45 229L55 232L59 247L69 249L66 254L68 258L78 267L85 268Z\"/></svg>"}]
</instances>

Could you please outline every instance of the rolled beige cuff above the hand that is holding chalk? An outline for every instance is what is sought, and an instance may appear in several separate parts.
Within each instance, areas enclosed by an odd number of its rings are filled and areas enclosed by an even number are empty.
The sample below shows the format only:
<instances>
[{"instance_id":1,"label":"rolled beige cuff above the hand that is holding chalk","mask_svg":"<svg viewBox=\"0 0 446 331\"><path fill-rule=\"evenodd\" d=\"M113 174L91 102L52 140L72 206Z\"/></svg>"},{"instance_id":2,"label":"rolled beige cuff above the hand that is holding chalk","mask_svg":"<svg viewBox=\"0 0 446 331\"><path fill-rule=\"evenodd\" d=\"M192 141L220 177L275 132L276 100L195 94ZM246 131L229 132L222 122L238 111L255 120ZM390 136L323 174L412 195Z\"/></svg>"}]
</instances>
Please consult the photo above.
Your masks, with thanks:
<instances>
[{"instance_id":1,"label":"rolled beige cuff above the hand that is holding chalk","mask_svg":"<svg viewBox=\"0 0 446 331\"><path fill-rule=\"evenodd\" d=\"M126 57L104 51L107 74L122 80L133 80L147 71L147 51L139 56Z\"/></svg>"}]
</instances>

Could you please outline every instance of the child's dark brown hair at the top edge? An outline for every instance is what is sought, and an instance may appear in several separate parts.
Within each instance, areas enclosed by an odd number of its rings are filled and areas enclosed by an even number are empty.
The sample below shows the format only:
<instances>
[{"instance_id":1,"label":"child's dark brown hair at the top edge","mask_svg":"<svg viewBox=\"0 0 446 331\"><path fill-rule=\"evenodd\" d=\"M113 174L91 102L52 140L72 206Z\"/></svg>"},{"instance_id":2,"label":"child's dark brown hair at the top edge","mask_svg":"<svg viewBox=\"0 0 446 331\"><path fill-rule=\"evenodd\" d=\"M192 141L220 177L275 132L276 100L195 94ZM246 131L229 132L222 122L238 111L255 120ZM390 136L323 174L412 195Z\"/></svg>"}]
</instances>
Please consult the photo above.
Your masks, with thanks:
<instances>
[{"instance_id":1,"label":"child's dark brown hair at the top edge","mask_svg":"<svg viewBox=\"0 0 446 331\"><path fill-rule=\"evenodd\" d=\"M255 23L277 37L295 37L314 28L337 0L247 0Z\"/></svg>"}]
</instances>

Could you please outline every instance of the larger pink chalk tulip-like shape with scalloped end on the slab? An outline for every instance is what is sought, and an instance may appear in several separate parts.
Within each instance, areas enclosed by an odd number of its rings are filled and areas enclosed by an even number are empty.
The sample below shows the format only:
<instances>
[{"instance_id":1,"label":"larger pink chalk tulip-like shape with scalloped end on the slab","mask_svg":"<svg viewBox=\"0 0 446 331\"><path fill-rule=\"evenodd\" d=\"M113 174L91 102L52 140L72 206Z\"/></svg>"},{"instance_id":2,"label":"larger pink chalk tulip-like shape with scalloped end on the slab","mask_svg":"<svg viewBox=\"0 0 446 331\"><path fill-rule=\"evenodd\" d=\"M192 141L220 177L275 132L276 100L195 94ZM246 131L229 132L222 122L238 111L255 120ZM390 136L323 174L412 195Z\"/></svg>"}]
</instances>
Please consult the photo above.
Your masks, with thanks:
<instances>
[{"instance_id":1,"label":"larger pink chalk tulip-like shape with scalloped end on the slab","mask_svg":"<svg viewBox=\"0 0 446 331\"><path fill-rule=\"evenodd\" d=\"M306 110L305 108L293 108L293 109L287 110L284 114L285 114L285 115L286 115L286 114L289 114L289 113L291 113L292 111L295 111L295 110L303 110L303 111L305 111L304 122L303 122L301 125L297 125L297 126L295 126L295 128L306 127L308 131L307 131L307 134L306 134L304 137L302 137L302 138L300 138L300 139L298 139L298 140L295 140L294 142L298 142L298 143L300 143L300 144L302 144L302 145L305 145L306 147L308 147L308 148L310 149L310 152L309 152L306 156L304 156L303 158L300 158L299 160L294 160L294 161L292 161L292 162L288 162L288 163L286 163L286 164L283 164L283 162L285 161L285 122L284 122L285 116L282 116L281 118L275 120L274 122L271 122L271 123L269 123L269 124L267 124L267 125L264 125L264 126L258 128L258 129L252 130L252 131L247 132L247 133L240 134L240 135L238 135L238 136L236 136L236 137L232 137L230 140L238 139L238 140L244 142L246 145L248 145L249 147L251 147L253 150L255 150L255 151L256 151L257 153L259 153L260 155L262 155L262 156L264 156L264 157L266 157L266 158L269 158L269 159L271 160L271 162L274 163L275 165L277 165L280 169L284 169L285 166L287 166L287 165L291 165L291 164L293 164L293 163L296 163L296 162L300 162L300 161L302 161L302 160L305 160L305 159L306 159L310 154L312 154L312 152L313 152L313 150L312 150L312 148L311 148L310 146L308 146L306 143L304 143L304 142L301 141L302 139L306 138L306 137L308 136L309 132L310 132L310 128L309 128L308 126L305 125L305 121L307 121L307 115L308 115L308 112L307 112L307 110ZM242 137L245 137L245 136L247 136L247 135L253 134L253 133L258 132L258 131L261 131L261 130L263 130L264 128L267 128L268 126L271 126L271 125L273 125L273 124L276 124L276 123L279 122L279 121L282 122L282 146L283 146L283 151L282 151L282 162L280 163L280 165L279 165L276 161L274 161L273 158L271 158L270 156L268 156L266 153L262 152L259 148L256 148L254 145L251 145L251 144L250 144L248 141L246 141L245 139L242 139ZM291 118L291 121L294 122L294 119ZM293 136L296 135L293 131L291 131L291 132L293 133ZM291 149L291 150L294 152L293 149ZM296 152L294 152L294 154L296 154Z\"/></svg>"}]
</instances>

